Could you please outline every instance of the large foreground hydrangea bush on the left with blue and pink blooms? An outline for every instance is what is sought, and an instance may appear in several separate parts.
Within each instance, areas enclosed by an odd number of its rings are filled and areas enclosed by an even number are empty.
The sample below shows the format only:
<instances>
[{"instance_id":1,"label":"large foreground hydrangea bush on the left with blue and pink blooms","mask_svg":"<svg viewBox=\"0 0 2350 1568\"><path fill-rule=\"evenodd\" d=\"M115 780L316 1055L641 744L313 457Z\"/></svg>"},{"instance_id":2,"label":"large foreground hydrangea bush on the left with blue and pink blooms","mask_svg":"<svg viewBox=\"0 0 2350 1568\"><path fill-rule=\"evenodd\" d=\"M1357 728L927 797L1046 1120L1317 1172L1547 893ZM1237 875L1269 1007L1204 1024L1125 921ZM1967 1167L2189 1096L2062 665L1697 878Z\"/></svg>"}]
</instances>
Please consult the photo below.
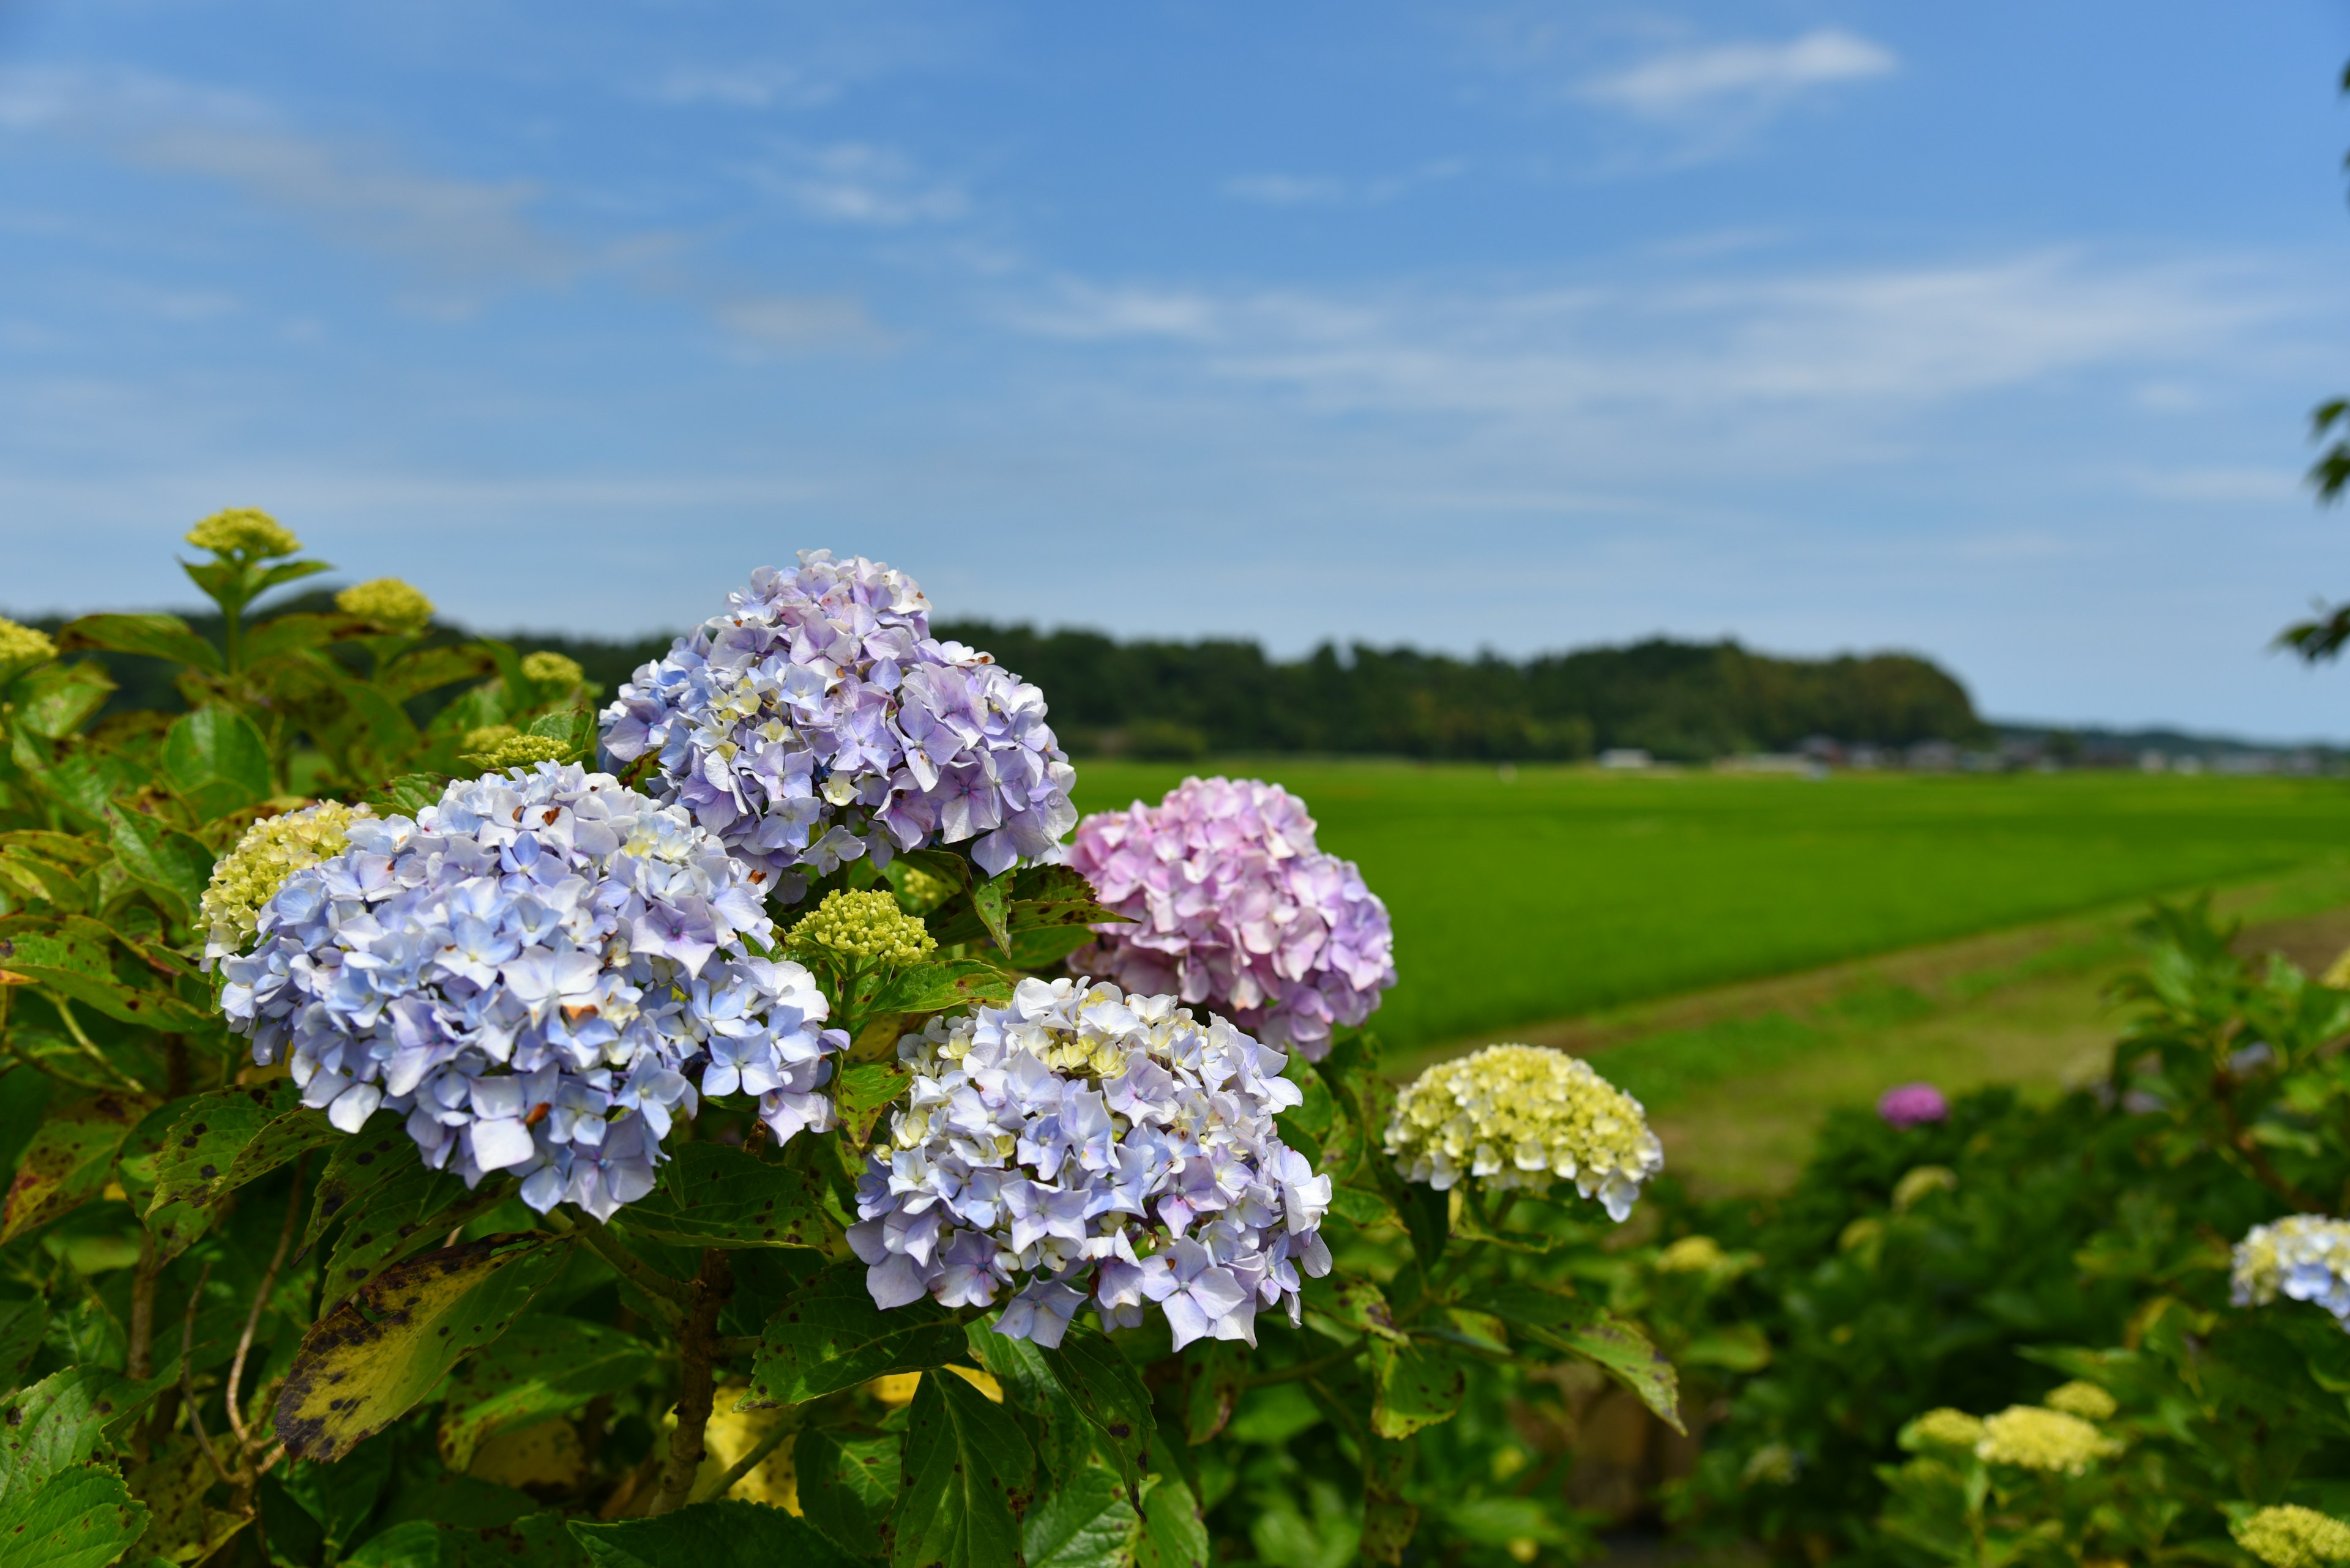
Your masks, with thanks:
<instances>
[{"instance_id":1,"label":"large foreground hydrangea bush on the left with blue and pink blooms","mask_svg":"<svg viewBox=\"0 0 2350 1568\"><path fill-rule=\"evenodd\" d=\"M402 578L284 607L266 512L188 543L219 635L0 621L5 1554L1567 1561L1513 1401L1680 1420L1593 1274L1638 1105L1523 1046L1398 1100L1295 797L1065 844L1046 696L867 559L597 712Z\"/></svg>"}]
</instances>

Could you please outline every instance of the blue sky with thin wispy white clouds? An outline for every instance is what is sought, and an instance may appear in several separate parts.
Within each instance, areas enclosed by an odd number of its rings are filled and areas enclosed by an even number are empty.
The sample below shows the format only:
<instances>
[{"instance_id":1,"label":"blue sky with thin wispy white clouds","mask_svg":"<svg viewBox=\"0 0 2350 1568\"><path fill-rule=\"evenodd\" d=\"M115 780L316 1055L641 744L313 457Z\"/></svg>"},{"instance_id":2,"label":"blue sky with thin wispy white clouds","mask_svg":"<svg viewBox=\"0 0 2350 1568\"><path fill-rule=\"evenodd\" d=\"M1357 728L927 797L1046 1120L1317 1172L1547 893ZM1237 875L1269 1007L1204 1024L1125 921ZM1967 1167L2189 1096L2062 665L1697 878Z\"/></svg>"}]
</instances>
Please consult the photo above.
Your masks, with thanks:
<instances>
[{"instance_id":1,"label":"blue sky with thin wispy white clouds","mask_svg":"<svg viewBox=\"0 0 2350 1568\"><path fill-rule=\"evenodd\" d=\"M1901 646L2350 736L2350 7L0 0L0 604Z\"/></svg>"}]
</instances>

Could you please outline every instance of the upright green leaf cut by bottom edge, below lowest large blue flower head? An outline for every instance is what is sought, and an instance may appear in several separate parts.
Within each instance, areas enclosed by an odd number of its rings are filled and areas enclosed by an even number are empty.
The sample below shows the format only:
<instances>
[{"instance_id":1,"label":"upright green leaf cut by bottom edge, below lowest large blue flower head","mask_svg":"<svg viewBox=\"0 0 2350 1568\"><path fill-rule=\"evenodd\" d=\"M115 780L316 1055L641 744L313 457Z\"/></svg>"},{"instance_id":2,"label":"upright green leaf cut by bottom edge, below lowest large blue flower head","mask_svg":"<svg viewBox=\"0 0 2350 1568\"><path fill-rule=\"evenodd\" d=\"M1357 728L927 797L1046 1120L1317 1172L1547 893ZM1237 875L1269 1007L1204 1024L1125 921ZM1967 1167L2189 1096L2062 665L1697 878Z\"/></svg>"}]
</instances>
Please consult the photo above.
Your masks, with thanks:
<instances>
[{"instance_id":1,"label":"upright green leaf cut by bottom edge, below lowest large blue flower head","mask_svg":"<svg viewBox=\"0 0 2350 1568\"><path fill-rule=\"evenodd\" d=\"M961 1338L961 1335L956 1335ZM893 1568L1001 1568L1020 1556L1036 1455L1010 1413L961 1378L924 1378L905 1427Z\"/></svg>"}]
</instances>

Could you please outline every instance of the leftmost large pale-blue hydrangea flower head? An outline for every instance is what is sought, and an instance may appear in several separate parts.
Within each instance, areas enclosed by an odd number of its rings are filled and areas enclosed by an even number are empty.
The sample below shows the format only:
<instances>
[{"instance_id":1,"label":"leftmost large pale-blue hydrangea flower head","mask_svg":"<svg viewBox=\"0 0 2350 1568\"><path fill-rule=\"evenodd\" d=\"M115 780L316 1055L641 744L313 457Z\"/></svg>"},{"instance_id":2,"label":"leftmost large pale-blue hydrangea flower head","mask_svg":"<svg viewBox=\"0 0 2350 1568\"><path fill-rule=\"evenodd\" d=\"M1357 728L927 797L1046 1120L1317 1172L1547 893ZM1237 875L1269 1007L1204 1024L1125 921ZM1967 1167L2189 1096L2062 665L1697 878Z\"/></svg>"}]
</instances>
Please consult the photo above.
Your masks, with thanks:
<instances>
[{"instance_id":1,"label":"leftmost large pale-blue hydrangea flower head","mask_svg":"<svg viewBox=\"0 0 2350 1568\"><path fill-rule=\"evenodd\" d=\"M348 835L261 907L221 994L334 1126L404 1112L428 1166L599 1220L653 1187L693 1063L780 1140L832 1126L848 1034L804 966L747 947L773 940L752 872L682 809L543 762Z\"/></svg>"}]
</instances>

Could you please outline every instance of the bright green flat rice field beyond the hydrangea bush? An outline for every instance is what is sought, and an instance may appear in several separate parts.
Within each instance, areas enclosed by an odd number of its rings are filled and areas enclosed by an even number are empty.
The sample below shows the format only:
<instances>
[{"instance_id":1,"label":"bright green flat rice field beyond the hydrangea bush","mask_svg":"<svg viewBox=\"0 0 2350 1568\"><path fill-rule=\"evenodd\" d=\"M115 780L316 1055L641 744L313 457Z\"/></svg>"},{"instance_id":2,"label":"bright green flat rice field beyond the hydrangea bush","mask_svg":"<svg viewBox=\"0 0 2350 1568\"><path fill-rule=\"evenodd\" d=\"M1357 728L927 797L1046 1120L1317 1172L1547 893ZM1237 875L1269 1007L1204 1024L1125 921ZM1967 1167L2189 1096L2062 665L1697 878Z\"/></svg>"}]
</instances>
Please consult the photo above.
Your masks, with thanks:
<instances>
[{"instance_id":1,"label":"bright green flat rice field beyond the hydrangea bush","mask_svg":"<svg viewBox=\"0 0 2350 1568\"><path fill-rule=\"evenodd\" d=\"M2350 783L2138 773L1826 780L1269 757L1081 762L1083 811L1187 773L1302 795L1396 919L1394 1046L2350 863Z\"/></svg>"}]
</instances>

